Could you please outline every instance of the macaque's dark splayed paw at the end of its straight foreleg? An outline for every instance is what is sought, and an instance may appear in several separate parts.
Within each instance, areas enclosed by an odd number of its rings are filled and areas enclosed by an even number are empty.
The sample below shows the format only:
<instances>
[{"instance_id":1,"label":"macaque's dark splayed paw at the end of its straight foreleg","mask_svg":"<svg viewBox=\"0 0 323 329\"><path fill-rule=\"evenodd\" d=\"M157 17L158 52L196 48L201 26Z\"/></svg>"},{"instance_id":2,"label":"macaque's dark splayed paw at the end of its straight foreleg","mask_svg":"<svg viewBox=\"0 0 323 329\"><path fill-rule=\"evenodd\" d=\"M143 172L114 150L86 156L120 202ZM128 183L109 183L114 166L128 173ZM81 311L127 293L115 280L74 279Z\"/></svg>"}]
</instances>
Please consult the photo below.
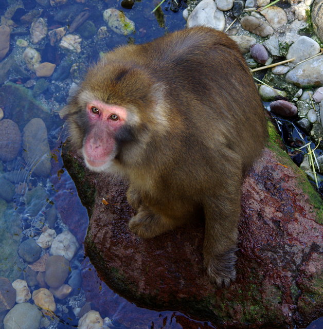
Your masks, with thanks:
<instances>
[{"instance_id":1,"label":"macaque's dark splayed paw at the end of its straight foreleg","mask_svg":"<svg viewBox=\"0 0 323 329\"><path fill-rule=\"evenodd\" d=\"M207 259L204 261L210 281L218 288L227 288L236 280L236 250L238 249L230 249L221 255L213 256L209 261Z\"/></svg>"}]
</instances>

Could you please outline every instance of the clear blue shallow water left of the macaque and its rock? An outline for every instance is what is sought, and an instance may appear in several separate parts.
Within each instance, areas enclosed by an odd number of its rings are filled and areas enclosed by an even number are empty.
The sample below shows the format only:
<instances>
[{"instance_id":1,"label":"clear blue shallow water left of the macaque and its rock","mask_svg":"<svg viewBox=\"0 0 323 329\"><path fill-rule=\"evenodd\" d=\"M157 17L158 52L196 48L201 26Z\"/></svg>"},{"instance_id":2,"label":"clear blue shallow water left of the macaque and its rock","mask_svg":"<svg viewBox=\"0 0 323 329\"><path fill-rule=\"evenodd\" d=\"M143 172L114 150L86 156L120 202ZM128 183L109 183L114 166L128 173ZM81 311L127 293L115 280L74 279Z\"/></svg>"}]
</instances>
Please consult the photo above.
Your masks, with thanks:
<instances>
[{"instance_id":1,"label":"clear blue shallow water left of the macaque and its rock","mask_svg":"<svg viewBox=\"0 0 323 329\"><path fill-rule=\"evenodd\" d=\"M60 157L61 145L66 136L64 122L60 119L58 111L66 104L71 84L80 81L86 67L97 61L101 51L109 51L129 42L148 42L166 32L183 28L183 8L176 13L165 11L165 6L168 6L165 2L164 16L158 16L157 19L151 13L156 3L150 0L136 2L131 10L122 9L120 2L113 0L85 0L84 4L76 4L73 9L68 9L69 3L75 4L68 2L58 7L44 7L35 0L26 0L25 8L21 10L16 10L17 5L22 7L19 0L8 0L0 4L0 15L5 16L6 20L15 13L10 49L6 58L0 61L0 107L3 109L4 119L15 122L23 136L22 147L18 148L16 154L9 159L0 160L0 176L3 178L0 186L0 277L8 278L10 282L16 279L33 282L34 284L29 284L31 293L42 287L40 277L37 280L30 277L44 273L44 264L40 262L35 266L33 261L28 264L19 257L17 250L30 237L38 240L46 227L55 230L56 234L69 230L80 246L70 260L72 272L65 280L73 287L73 291L62 300L55 299L56 310L51 316L46 316L42 326L52 329L76 327L76 315L79 315L82 307L81 312L84 312L86 303L90 302L92 309L100 309L102 318L111 319L112 327L214 328L210 323L194 321L180 312L156 312L139 308L115 294L100 281L95 269L84 256L83 241L88 225L87 212L80 203L74 182L64 169ZM84 24L92 22L92 25L88 25L85 31L84 26L83 31L80 26L81 30L77 29L75 32L86 35L86 30L91 30L93 26L97 31L105 25L102 12L111 7L122 9L135 22L136 32L123 36L109 31L109 35L102 39L98 39L96 33L89 39L83 36L82 50L78 54L61 49L58 43L50 45L48 37L39 44L32 44L30 24L21 22L23 14L43 10L40 16L47 20L48 30L57 29L70 25L76 13L87 11L86 8L89 8L91 15ZM24 40L27 46L37 49L42 56L42 63L56 64L54 74L49 78L36 77L34 72L26 67L23 60L26 46L17 45L18 40ZM62 63L66 65L62 67ZM71 71L69 64L74 64ZM26 125L33 118L41 118L44 124L35 123L34 129L27 133ZM41 133L44 133L46 138L43 138ZM17 144L19 147L20 140L17 139L17 134L13 136L13 129L7 130L6 134L1 136L8 147L14 149ZM40 145L45 149L47 147L49 152L35 152L41 149ZM48 170L42 170L48 163ZM31 252L31 249L27 248L26 259L28 251ZM44 260L48 252L49 248L42 248L37 259ZM89 296L92 299L89 299ZM33 303L31 299L29 302ZM103 311L100 305L106 305ZM5 314L0 314L0 327Z\"/></svg>"}]
</instances>

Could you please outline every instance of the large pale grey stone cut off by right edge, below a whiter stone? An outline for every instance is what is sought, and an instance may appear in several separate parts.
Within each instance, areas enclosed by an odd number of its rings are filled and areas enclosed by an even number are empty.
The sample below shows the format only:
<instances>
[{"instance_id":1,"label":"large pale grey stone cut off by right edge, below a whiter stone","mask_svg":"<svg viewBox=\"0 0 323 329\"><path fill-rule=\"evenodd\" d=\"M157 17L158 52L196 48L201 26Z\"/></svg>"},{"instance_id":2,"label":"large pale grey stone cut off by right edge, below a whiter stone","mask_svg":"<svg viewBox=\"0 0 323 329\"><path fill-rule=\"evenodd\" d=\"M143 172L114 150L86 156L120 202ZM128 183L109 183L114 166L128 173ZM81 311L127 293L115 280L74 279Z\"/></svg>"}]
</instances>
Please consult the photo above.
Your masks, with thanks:
<instances>
[{"instance_id":1,"label":"large pale grey stone cut off by right edge, below a whiter stone","mask_svg":"<svg viewBox=\"0 0 323 329\"><path fill-rule=\"evenodd\" d=\"M285 79L299 87L323 85L323 55L298 64L286 74Z\"/></svg>"}]
</instances>

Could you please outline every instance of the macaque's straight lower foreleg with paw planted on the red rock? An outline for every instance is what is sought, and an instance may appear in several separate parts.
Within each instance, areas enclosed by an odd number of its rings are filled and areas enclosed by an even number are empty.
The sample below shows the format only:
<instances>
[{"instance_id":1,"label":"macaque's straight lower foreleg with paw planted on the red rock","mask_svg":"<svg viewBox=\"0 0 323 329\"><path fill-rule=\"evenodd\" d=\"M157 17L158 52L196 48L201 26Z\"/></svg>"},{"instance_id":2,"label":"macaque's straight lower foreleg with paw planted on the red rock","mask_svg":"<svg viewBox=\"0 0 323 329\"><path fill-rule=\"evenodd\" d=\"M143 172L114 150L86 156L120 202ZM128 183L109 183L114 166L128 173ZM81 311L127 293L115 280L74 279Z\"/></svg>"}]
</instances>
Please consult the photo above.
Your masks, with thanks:
<instances>
[{"instance_id":1,"label":"macaque's straight lower foreleg with paw planted on the red rock","mask_svg":"<svg viewBox=\"0 0 323 329\"><path fill-rule=\"evenodd\" d=\"M204 265L210 281L219 288L228 287L236 279L239 188L235 194L230 197L223 191L223 196L208 198L204 204Z\"/></svg>"}]
</instances>

